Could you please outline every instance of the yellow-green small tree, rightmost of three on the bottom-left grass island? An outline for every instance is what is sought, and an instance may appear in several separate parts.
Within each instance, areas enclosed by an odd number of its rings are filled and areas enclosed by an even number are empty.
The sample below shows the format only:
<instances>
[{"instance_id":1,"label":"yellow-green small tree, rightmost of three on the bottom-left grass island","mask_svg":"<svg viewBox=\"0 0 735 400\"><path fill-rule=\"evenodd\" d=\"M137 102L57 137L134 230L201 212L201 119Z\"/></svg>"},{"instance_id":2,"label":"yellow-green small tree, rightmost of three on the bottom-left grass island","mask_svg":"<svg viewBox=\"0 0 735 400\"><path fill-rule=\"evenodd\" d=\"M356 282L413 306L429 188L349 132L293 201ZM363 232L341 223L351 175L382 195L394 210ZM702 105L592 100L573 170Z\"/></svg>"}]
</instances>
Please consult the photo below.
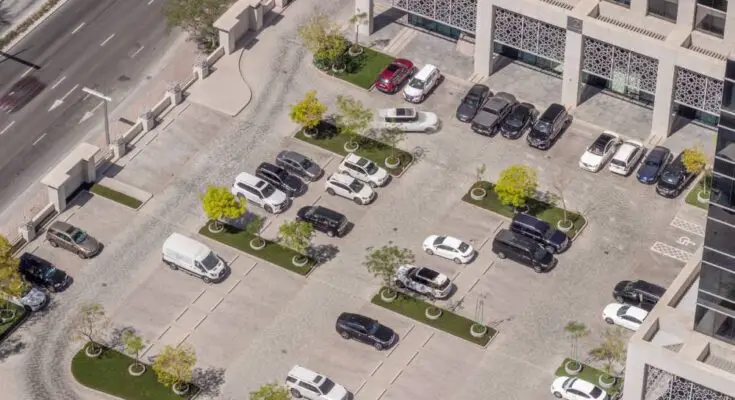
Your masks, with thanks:
<instances>
[{"instance_id":1,"label":"yellow-green small tree, rightmost of three on the bottom-left grass island","mask_svg":"<svg viewBox=\"0 0 735 400\"><path fill-rule=\"evenodd\" d=\"M186 393L196 363L197 356L191 345L167 345L156 355L152 367L158 382L172 386L174 392Z\"/></svg>"}]
</instances>

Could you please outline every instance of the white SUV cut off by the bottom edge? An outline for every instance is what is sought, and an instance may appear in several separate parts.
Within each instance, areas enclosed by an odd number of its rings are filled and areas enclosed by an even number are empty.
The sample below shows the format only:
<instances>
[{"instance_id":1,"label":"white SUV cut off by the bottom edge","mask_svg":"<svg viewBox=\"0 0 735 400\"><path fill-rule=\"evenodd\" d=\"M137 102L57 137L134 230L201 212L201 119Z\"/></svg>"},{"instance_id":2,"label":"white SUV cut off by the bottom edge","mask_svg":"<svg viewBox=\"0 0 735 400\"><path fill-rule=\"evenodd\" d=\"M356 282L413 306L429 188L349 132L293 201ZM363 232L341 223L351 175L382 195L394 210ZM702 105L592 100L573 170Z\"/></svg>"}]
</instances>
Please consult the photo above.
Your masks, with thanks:
<instances>
[{"instance_id":1,"label":"white SUV cut off by the bottom edge","mask_svg":"<svg viewBox=\"0 0 735 400\"><path fill-rule=\"evenodd\" d=\"M352 398L352 393L344 386L298 365L288 372L286 387L295 399L303 397L309 400L348 400Z\"/></svg>"}]
</instances>

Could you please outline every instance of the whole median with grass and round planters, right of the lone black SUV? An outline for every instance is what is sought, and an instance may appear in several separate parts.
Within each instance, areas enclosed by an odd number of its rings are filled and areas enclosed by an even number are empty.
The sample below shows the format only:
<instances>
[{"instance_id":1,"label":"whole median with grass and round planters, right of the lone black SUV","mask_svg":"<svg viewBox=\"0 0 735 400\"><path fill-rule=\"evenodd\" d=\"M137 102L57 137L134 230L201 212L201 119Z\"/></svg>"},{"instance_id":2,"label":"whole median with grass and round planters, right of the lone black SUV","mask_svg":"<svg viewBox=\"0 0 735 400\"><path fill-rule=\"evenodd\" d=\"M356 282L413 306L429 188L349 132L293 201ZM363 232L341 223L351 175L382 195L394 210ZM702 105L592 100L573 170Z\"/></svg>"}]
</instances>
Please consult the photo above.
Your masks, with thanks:
<instances>
[{"instance_id":1,"label":"whole median with grass and round planters, right of the lone black SUV","mask_svg":"<svg viewBox=\"0 0 735 400\"><path fill-rule=\"evenodd\" d=\"M395 299L386 301L386 291L395 294ZM372 303L483 347L497 334L489 326L385 287L373 296Z\"/></svg>"}]
</instances>

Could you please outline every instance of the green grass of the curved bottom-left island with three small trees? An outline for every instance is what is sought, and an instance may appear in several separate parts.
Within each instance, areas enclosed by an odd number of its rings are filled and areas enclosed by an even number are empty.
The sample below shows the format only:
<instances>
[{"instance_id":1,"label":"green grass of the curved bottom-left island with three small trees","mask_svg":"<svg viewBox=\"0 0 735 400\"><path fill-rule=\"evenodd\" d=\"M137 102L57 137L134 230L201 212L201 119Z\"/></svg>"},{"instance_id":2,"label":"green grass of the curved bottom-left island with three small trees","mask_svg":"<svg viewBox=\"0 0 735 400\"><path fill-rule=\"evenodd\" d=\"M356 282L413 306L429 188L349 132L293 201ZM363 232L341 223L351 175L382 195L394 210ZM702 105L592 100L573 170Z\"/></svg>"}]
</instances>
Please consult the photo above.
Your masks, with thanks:
<instances>
[{"instance_id":1,"label":"green grass of the curved bottom-left island with three small trees","mask_svg":"<svg viewBox=\"0 0 735 400\"><path fill-rule=\"evenodd\" d=\"M84 348L71 360L71 373L82 385L127 400L192 399L199 389L191 385L189 393L179 396L158 382L150 365L141 376L132 376L128 367L134 360L118 351L105 349L96 358L87 357Z\"/></svg>"}]
</instances>

